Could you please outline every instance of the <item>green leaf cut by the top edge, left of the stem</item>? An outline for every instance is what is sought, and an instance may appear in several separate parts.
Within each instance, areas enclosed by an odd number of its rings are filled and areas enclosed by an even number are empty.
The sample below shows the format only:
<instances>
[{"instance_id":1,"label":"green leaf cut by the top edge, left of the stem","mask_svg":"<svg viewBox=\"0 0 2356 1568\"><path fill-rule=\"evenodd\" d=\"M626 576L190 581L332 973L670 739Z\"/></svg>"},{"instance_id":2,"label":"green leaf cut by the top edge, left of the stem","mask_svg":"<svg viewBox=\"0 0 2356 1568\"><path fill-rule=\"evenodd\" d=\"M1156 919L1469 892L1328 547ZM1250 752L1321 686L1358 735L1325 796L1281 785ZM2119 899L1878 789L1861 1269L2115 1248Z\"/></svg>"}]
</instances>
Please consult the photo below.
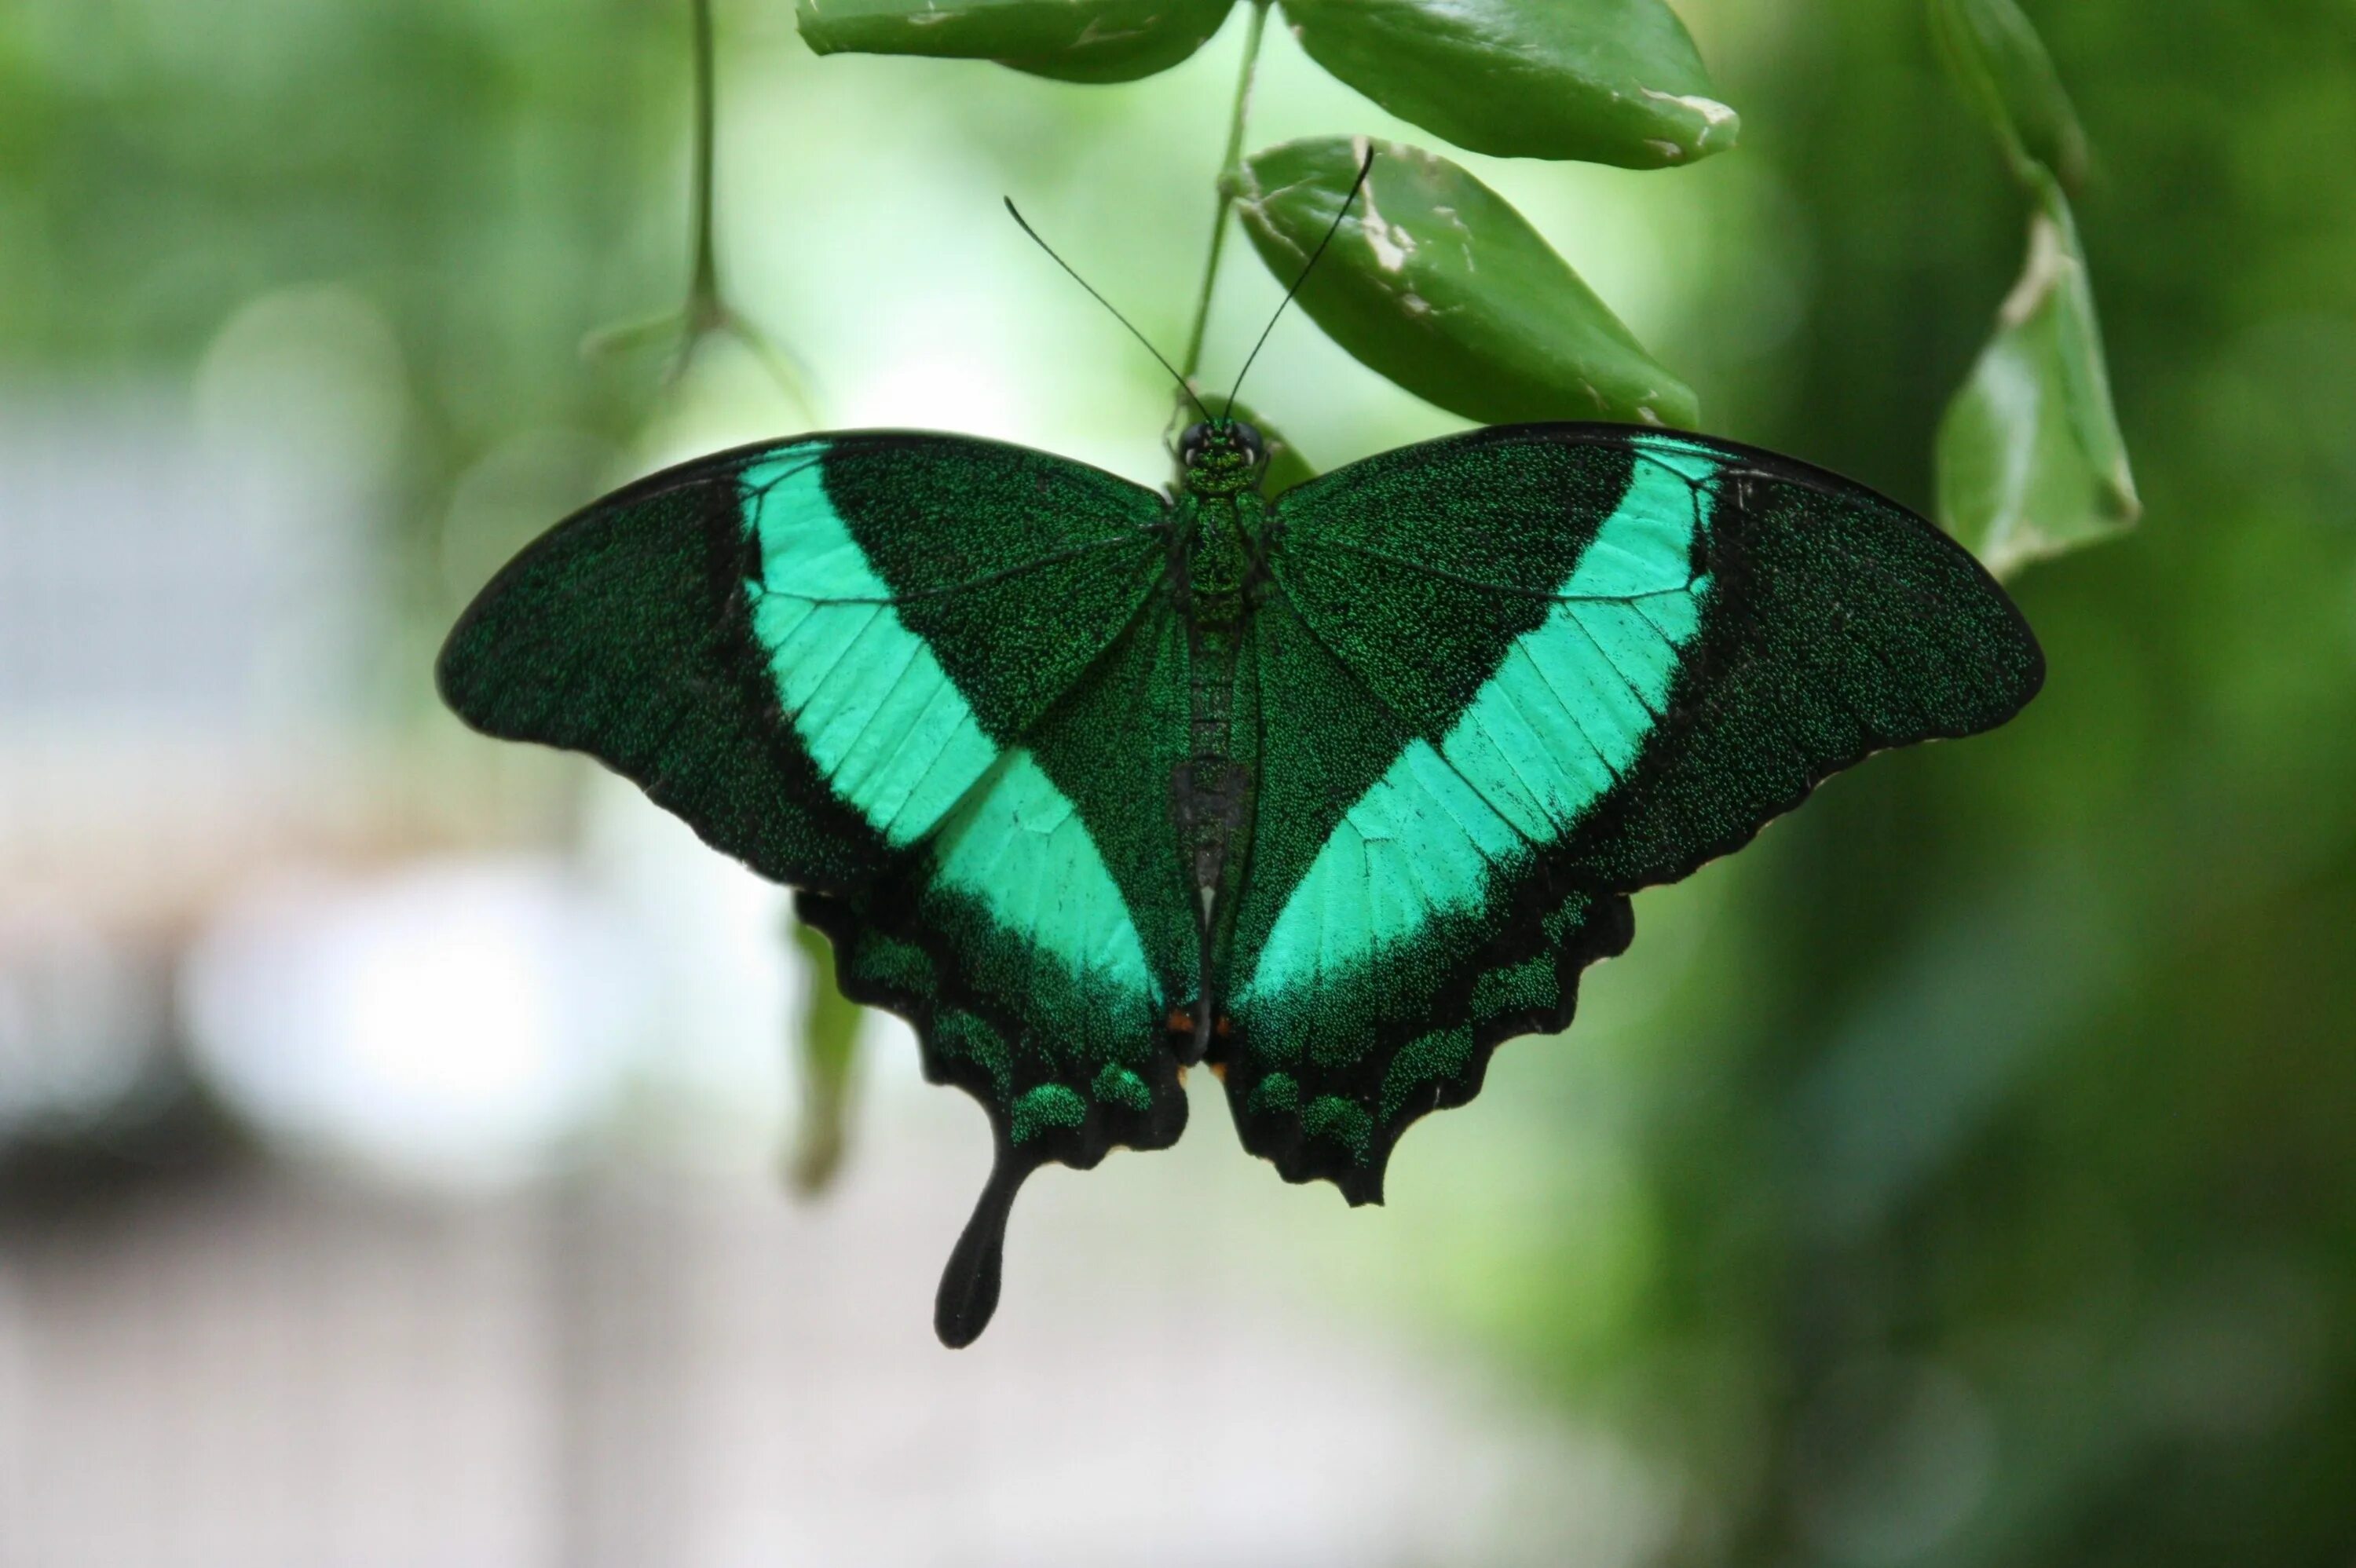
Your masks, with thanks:
<instances>
[{"instance_id":1,"label":"green leaf cut by the top edge, left of the stem","mask_svg":"<svg viewBox=\"0 0 2356 1568\"><path fill-rule=\"evenodd\" d=\"M818 54L994 59L1067 82L1131 82L1199 49L1235 0L796 0Z\"/></svg>"}]
</instances>

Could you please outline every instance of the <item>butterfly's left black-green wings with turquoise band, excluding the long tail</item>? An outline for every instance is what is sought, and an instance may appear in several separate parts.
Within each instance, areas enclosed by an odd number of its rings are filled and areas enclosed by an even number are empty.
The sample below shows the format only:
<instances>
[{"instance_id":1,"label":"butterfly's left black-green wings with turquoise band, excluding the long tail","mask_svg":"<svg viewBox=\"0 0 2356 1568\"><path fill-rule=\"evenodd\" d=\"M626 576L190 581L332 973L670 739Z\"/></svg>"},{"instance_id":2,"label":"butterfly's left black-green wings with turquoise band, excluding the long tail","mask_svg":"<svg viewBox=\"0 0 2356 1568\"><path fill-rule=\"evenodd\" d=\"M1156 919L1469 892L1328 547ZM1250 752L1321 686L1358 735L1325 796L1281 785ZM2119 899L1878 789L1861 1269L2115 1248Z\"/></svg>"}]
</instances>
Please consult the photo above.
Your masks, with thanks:
<instances>
[{"instance_id":1,"label":"butterfly's left black-green wings with turquoise band, excluding the long tail","mask_svg":"<svg viewBox=\"0 0 2356 1568\"><path fill-rule=\"evenodd\" d=\"M1001 1156L1088 1165L1185 1123L1164 1017L1190 928L1164 951L1131 918L1159 897L1183 925L1185 890L1154 883L1176 852L1093 831L1140 789L1103 758L1147 777L1176 744L1152 732L1162 518L1147 490L999 443L730 452L532 544L450 633L441 690L801 888L843 989L916 1024Z\"/></svg>"}]
</instances>

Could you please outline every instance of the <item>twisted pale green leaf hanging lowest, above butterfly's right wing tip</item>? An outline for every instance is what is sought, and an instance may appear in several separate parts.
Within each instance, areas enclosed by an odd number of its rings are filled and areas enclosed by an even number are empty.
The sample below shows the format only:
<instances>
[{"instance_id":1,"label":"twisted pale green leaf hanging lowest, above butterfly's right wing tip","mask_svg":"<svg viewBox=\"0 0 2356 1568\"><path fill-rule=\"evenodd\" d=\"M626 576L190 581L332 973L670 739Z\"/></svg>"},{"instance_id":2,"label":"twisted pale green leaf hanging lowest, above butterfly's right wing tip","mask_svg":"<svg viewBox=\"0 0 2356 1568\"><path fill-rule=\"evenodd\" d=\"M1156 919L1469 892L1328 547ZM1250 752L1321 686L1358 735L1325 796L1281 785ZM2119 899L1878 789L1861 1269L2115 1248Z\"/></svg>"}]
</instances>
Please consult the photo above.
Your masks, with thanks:
<instances>
[{"instance_id":1,"label":"twisted pale green leaf hanging lowest, above butterfly's right wing tip","mask_svg":"<svg viewBox=\"0 0 2356 1568\"><path fill-rule=\"evenodd\" d=\"M2031 165L2029 266L1939 424L1939 523L1998 577L2142 516L2059 181Z\"/></svg>"}]
</instances>

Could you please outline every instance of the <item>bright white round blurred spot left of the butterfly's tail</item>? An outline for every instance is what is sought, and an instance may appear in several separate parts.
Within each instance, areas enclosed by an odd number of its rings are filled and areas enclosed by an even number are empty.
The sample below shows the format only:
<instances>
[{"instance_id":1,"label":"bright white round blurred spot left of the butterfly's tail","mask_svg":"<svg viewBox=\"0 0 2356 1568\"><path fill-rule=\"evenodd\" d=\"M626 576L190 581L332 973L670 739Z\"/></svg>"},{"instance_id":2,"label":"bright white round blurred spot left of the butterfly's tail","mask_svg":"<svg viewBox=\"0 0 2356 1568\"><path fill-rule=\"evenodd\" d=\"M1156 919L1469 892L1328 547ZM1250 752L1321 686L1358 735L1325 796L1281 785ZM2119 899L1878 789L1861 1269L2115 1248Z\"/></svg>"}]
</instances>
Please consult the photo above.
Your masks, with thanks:
<instances>
[{"instance_id":1,"label":"bright white round blurred spot left of the butterfly's tail","mask_svg":"<svg viewBox=\"0 0 2356 1568\"><path fill-rule=\"evenodd\" d=\"M610 916L551 862L278 883L191 946L196 1057L257 1125L401 1175L509 1180L605 1102L641 1015Z\"/></svg>"}]
</instances>

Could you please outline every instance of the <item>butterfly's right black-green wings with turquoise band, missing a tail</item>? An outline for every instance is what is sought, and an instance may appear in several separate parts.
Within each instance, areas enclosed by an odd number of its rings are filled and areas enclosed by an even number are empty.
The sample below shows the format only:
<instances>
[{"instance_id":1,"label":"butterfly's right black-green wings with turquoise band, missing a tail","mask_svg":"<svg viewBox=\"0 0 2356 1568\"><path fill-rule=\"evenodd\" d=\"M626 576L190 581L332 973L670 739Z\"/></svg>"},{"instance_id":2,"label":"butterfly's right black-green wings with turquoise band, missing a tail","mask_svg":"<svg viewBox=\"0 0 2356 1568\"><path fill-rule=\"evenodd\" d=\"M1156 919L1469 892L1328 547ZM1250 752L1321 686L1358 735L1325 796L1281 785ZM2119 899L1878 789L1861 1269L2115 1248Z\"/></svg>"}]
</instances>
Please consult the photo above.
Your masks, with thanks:
<instances>
[{"instance_id":1,"label":"butterfly's right black-green wings with turquoise band, missing a tail","mask_svg":"<svg viewBox=\"0 0 2356 1568\"><path fill-rule=\"evenodd\" d=\"M1246 1147L1350 1201L1498 1041L1569 1022L1628 892L2043 680L1925 520L1699 436L1472 431L1275 516L1223 1062Z\"/></svg>"}]
</instances>

